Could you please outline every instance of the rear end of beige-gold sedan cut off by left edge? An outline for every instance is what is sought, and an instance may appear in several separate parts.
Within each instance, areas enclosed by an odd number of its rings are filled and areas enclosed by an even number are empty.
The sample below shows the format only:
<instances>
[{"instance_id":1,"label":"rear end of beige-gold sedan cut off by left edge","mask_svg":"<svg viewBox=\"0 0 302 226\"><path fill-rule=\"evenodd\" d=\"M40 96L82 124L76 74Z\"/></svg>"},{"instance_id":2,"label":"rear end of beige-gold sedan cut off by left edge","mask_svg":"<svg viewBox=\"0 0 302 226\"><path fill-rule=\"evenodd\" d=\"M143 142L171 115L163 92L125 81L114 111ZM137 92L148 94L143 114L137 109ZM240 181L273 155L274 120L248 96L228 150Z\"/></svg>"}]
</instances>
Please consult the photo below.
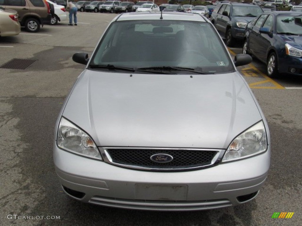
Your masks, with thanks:
<instances>
[{"instance_id":1,"label":"rear end of beige-gold sedan cut off by left edge","mask_svg":"<svg viewBox=\"0 0 302 226\"><path fill-rule=\"evenodd\" d=\"M21 31L18 12L12 9L4 10L0 7L0 36L14 36Z\"/></svg>"}]
</instances>

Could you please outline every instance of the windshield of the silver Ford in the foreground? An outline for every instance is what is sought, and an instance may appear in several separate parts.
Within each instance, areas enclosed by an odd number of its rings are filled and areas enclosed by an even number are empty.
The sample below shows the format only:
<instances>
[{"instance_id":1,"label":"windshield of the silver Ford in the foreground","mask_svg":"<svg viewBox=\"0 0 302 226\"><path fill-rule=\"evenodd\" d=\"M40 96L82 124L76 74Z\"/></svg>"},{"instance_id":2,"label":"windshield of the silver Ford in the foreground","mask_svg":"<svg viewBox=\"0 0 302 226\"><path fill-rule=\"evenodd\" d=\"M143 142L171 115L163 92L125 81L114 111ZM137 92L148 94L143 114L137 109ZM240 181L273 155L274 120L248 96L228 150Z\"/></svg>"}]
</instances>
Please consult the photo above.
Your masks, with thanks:
<instances>
[{"instance_id":1,"label":"windshield of the silver Ford in the foreground","mask_svg":"<svg viewBox=\"0 0 302 226\"><path fill-rule=\"evenodd\" d=\"M209 23L134 20L110 25L88 68L182 67L213 74L234 71L231 61Z\"/></svg>"}]
</instances>

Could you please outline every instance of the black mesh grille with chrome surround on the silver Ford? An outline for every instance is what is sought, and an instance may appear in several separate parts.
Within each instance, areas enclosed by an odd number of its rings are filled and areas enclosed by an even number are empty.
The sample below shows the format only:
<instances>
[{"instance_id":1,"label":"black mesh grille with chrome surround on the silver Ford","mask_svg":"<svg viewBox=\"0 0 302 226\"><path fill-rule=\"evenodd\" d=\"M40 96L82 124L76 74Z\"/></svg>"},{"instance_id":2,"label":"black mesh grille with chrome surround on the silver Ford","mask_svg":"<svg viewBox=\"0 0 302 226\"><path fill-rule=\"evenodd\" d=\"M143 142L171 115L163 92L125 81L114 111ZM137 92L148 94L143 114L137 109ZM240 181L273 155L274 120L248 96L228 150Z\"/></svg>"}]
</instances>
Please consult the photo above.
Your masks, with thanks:
<instances>
[{"instance_id":1,"label":"black mesh grille with chrome surround on the silver Ford","mask_svg":"<svg viewBox=\"0 0 302 226\"><path fill-rule=\"evenodd\" d=\"M108 157L108 161L106 161L108 163L146 170L185 170L201 168L213 165L220 154L220 150L204 149L106 148L104 150ZM173 160L165 163L153 162L150 157L155 154L171 155Z\"/></svg>"}]
</instances>

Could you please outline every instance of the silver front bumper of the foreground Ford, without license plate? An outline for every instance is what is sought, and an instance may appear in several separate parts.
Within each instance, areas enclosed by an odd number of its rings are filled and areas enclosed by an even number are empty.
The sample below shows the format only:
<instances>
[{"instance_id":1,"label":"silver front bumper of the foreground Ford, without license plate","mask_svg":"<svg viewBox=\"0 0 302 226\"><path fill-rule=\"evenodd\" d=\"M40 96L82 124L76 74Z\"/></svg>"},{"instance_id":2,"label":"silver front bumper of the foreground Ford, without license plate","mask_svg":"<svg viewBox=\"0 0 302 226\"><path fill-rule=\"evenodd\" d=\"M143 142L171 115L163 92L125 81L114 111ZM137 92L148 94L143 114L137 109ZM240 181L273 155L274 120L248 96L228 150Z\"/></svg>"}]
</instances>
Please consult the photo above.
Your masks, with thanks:
<instances>
[{"instance_id":1,"label":"silver front bumper of the foreground Ford, without license plate","mask_svg":"<svg viewBox=\"0 0 302 226\"><path fill-rule=\"evenodd\" d=\"M54 163L64 191L83 202L126 209L202 210L254 198L268 174L270 147L261 155L211 168L154 172L85 158L59 149L54 142ZM250 199L238 200L252 193Z\"/></svg>"}]
</instances>

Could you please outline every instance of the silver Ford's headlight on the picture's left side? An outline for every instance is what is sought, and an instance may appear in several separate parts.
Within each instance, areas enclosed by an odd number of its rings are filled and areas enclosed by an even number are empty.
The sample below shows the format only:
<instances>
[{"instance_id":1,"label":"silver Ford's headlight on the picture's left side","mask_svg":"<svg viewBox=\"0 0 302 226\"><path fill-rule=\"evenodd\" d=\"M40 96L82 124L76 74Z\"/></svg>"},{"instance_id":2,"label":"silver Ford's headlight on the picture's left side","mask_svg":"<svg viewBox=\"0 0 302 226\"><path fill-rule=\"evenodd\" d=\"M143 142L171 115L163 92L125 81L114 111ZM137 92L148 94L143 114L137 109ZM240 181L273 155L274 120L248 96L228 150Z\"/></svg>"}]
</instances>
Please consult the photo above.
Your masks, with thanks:
<instances>
[{"instance_id":1,"label":"silver Ford's headlight on the picture's left side","mask_svg":"<svg viewBox=\"0 0 302 226\"><path fill-rule=\"evenodd\" d=\"M59 123L57 145L78 155L102 159L92 138L65 118L61 118Z\"/></svg>"}]
</instances>

